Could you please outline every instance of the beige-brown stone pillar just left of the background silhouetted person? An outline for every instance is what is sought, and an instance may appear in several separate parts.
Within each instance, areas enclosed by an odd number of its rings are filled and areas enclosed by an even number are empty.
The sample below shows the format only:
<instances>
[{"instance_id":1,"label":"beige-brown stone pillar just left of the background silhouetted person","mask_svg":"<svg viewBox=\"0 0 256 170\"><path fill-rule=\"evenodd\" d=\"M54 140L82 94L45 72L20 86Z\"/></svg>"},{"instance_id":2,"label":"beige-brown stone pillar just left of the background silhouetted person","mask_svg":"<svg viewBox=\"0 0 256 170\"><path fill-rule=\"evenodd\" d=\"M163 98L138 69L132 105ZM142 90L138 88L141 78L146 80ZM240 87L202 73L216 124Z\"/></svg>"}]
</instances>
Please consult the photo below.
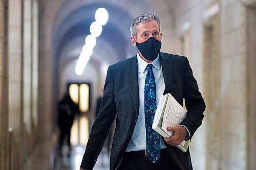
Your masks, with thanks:
<instances>
[{"instance_id":1,"label":"beige-brown stone pillar just left of the background silhouetted person","mask_svg":"<svg viewBox=\"0 0 256 170\"><path fill-rule=\"evenodd\" d=\"M49 1L48 1L49 2ZM56 1L58 2L58 1ZM49 2L50 3L50 2ZM55 2L54 2L55 3ZM47 3L46 3L47 4ZM51 3L50 3L51 4ZM40 3L39 3L40 5ZM48 7L51 11L53 6ZM47 9L47 8L46 8ZM48 11L39 12L39 18L42 18L39 23L39 98L38 98L38 150L40 160L49 160L44 162L44 167L50 167L50 155L52 148L52 104L53 90L53 71L52 71L52 13ZM49 17L50 16L50 17Z\"/></svg>"}]
</instances>

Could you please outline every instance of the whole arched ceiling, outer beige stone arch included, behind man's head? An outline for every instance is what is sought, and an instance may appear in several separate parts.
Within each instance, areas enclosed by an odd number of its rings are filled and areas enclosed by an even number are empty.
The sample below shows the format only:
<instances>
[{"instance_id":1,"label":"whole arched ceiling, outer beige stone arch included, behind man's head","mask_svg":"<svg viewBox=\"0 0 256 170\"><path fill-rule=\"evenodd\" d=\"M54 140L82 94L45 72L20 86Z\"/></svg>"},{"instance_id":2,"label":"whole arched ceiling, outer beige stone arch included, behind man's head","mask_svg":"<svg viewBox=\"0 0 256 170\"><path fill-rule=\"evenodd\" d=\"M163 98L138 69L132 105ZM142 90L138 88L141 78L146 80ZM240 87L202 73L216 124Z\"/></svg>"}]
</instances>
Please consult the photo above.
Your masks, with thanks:
<instances>
[{"instance_id":1,"label":"whole arched ceiling, outer beige stone arch included, behind man's head","mask_svg":"<svg viewBox=\"0 0 256 170\"><path fill-rule=\"evenodd\" d=\"M80 55L84 39L90 34L90 25L95 21L95 11L104 7L109 12L109 21L97 37L97 44L89 62L113 64L136 54L131 44L130 25L143 12L156 12L161 17L163 41L172 37L173 13L167 0L42 0L40 5L41 40L45 45L40 49L52 57L53 75ZM163 24L164 23L164 24ZM162 49L168 52L169 44ZM95 67L99 67L98 64ZM99 69L98 69L99 71Z\"/></svg>"}]
</instances>

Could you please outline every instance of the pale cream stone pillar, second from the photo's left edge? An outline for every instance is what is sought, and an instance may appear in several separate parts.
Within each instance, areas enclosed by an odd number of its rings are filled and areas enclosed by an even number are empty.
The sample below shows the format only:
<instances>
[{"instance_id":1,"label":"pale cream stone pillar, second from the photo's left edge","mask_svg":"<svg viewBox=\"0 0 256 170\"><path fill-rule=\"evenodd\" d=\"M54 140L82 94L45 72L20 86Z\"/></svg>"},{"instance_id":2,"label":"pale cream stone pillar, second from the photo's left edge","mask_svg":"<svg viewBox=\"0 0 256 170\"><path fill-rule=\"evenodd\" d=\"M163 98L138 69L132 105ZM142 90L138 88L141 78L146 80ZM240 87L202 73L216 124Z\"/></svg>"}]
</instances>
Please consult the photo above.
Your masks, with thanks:
<instances>
[{"instance_id":1,"label":"pale cream stone pillar, second from the photo's left edge","mask_svg":"<svg viewBox=\"0 0 256 170\"><path fill-rule=\"evenodd\" d=\"M23 150L23 9L22 0L9 0L9 128L13 130L10 138L11 167L20 169L24 161Z\"/></svg>"}]
</instances>

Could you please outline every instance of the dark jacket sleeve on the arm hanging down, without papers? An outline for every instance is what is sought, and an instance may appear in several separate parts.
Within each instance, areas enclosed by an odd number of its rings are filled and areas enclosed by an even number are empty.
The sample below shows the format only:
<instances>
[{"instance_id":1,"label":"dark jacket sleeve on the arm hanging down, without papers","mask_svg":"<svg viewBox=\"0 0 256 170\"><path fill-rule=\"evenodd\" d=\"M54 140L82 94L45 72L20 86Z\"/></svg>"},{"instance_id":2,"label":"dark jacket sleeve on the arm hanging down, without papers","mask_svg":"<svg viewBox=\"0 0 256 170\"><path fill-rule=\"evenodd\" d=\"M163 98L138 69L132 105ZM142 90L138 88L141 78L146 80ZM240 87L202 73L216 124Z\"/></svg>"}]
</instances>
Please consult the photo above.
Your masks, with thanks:
<instances>
[{"instance_id":1,"label":"dark jacket sleeve on the arm hanging down, without papers","mask_svg":"<svg viewBox=\"0 0 256 170\"><path fill-rule=\"evenodd\" d=\"M104 141L106 140L106 137L108 137L116 117L116 112L114 82L109 67L105 80L104 93L99 114L92 126L86 152L84 153L81 162L81 168L86 170L93 169L103 147Z\"/></svg>"}]
</instances>

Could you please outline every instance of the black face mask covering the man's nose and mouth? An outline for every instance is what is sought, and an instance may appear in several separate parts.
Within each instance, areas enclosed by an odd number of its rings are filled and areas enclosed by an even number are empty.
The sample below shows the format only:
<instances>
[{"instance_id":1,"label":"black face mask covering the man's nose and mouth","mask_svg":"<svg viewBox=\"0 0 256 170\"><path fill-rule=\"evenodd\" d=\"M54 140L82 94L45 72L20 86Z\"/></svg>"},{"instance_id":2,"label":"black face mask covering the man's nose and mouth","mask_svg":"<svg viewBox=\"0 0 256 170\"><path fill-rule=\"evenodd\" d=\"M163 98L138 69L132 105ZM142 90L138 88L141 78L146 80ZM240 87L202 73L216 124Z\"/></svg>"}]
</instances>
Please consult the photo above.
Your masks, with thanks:
<instances>
[{"instance_id":1,"label":"black face mask covering the man's nose and mouth","mask_svg":"<svg viewBox=\"0 0 256 170\"><path fill-rule=\"evenodd\" d=\"M136 41L135 41L136 42ZM160 52L162 42L158 41L154 37L148 38L143 43L136 42L136 46L139 52L147 60L155 60Z\"/></svg>"}]
</instances>

